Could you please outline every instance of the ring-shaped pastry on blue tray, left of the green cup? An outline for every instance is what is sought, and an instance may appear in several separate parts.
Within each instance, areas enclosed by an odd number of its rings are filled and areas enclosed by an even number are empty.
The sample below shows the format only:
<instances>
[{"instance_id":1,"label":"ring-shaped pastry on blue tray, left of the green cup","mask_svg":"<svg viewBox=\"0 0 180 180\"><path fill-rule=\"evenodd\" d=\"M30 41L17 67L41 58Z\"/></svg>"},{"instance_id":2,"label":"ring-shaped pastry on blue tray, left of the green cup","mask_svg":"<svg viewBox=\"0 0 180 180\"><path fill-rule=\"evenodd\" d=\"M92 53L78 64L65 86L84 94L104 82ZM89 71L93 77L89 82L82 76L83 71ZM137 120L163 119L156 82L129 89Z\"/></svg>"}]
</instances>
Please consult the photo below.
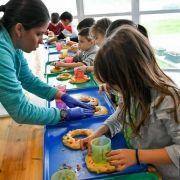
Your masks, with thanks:
<instances>
[{"instance_id":1,"label":"ring-shaped pastry on blue tray, left of the green cup","mask_svg":"<svg viewBox=\"0 0 180 180\"><path fill-rule=\"evenodd\" d=\"M69 131L66 135L63 136L62 142L65 146L71 149L81 149L80 139L75 138L78 135L90 136L93 134L93 131L90 129L75 129L73 131Z\"/></svg>"}]
</instances>

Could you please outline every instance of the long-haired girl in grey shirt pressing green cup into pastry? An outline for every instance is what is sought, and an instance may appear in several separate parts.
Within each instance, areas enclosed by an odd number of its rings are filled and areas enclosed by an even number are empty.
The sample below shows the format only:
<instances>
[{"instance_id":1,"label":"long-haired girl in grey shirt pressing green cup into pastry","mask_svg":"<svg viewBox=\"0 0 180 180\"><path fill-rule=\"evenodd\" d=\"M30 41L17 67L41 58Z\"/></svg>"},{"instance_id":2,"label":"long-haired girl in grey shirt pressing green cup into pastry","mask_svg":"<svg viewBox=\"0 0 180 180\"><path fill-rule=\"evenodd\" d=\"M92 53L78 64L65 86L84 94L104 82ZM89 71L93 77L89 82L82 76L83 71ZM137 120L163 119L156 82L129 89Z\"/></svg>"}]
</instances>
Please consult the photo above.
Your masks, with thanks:
<instances>
[{"instance_id":1,"label":"long-haired girl in grey shirt pressing green cup into pastry","mask_svg":"<svg viewBox=\"0 0 180 180\"><path fill-rule=\"evenodd\" d=\"M146 163L163 179L179 179L180 91L157 65L148 39L132 26L118 28L99 49L94 71L123 95L124 104L81 141L82 148L95 137L122 132L129 149L107 154L117 171Z\"/></svg>"}]
</instances>

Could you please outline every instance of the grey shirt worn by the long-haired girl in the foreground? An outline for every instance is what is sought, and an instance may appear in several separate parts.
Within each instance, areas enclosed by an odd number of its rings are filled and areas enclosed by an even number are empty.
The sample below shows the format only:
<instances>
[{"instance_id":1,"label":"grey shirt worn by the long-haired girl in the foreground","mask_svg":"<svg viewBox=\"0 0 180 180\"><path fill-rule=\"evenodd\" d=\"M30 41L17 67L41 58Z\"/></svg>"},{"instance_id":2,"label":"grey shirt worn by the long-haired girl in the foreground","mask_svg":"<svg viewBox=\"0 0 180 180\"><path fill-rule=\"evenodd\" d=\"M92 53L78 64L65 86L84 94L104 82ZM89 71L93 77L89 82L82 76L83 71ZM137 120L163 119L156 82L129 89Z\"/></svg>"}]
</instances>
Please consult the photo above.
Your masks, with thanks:
<instances>
[{"instance_id":1,"label":"grey shirt worn by the long-haired girl in the foreground","mask_svg":"<svg viewBox=\"0 0 180 180\"><path fill-rule=\"evenodd\" d=\"M158 171L163 179L180 179L180 123L174 121L173 109L174 101L170 96L165 96L164 100L155 108L155 104L160 98L160 94L152 92L153 101L150 107L149 119L140 128L140 135L130 139L133 148L139 149L160 149L165 148L173 164L158 165ZM177 102L178 104L179 102ZM122 131L122 115L120 108L117 108L106 121L110 129L111 137ZM178 120L180 120L180 106L178 107Z\"/></svg>"}]
</instances>

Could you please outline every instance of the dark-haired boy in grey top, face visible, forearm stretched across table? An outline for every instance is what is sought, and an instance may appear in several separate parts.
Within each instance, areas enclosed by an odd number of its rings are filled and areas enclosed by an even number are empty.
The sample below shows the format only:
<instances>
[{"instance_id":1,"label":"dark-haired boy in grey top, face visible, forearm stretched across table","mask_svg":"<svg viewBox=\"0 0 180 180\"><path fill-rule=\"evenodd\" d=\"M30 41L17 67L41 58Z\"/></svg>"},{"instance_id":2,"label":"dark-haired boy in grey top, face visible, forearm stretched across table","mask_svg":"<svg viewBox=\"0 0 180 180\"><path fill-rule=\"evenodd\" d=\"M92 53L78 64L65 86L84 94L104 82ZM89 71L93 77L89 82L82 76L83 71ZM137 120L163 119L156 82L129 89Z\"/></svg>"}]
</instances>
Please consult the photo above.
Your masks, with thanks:
<instances>
[{"instance_id":1,"label":"dark-haired boy in grey top, face visible, forearm stretched across table","mask_svg":"<svg viewBox=\"0 0 180 180\"><path fill-rule=\"evenodd\" d=\"M94 44L94 40L89 36L89 28L84 28L79 32L79 49L80 54L74 57L74 63L57 62L56 67L79 67L79 66L92 66L94 64L94 58L97 53L97 46Z\"/></svg>"}]
</instances>

